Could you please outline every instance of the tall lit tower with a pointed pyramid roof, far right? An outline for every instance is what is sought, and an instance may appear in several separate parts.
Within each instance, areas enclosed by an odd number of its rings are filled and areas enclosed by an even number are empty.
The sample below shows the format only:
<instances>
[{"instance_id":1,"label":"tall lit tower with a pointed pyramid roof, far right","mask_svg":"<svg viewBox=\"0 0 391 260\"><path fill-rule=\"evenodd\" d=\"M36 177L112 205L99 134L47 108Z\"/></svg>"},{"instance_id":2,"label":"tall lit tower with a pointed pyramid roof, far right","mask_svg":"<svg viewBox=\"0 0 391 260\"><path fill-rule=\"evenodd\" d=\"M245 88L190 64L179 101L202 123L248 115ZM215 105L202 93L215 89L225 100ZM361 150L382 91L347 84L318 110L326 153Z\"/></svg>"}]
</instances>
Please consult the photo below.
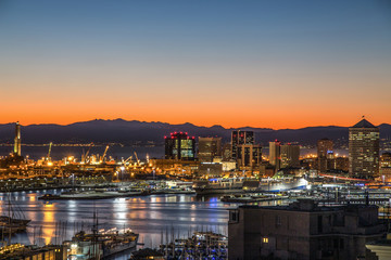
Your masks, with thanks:
<instances>
[{"instance_id":1,"label":"tall lit tower with a pointed pyramid roof, far right","mask_svg":"<svg viewBox=\"0 0 391 260\"><path fill-rule=\"evenodd\" d=\"M373 179L379 174L379 128L366 119L349 128L349 172Z\"/></svg>"}]
</instances>

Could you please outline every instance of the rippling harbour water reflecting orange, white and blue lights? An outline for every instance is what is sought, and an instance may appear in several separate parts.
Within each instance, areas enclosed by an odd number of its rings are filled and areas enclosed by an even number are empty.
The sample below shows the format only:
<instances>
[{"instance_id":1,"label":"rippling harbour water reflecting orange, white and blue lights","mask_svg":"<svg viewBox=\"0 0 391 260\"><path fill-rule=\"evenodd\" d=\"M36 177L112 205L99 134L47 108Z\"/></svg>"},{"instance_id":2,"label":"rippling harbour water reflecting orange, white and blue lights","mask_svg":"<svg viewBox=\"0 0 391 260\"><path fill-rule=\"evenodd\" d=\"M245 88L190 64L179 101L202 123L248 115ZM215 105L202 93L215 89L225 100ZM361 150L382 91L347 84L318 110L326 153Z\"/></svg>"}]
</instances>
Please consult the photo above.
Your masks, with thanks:
<instances>
[{"instance_id":1,"label":"rippling harbour water reflecting orange, white and blue lights","mask_svg":"<svg viewBox=\"0 0 391 260\"><path fill-rule=\"evenodd\" d=\"M59 194L61 191L52 191ZM16 196L15 196L16 195ZM98 212L99 229L130 227L140 234L139 242L146 247L156 247L162 242L162 233L175 230L176 236L185 237L194 230L213 230L227 234L228 208L237 204L225 204L217 197L194 195L153 195L133 198L102 200L38 200L40 192L12 193L11 199L31 219L28 234L17 234L13 242L30 244L39 233L42 243L54 242L56 223L67 222L66 237L83 226L90 229L93 211ZM7 209L5 194L0 194L0 210ZM34 229L34 226L36 226ZM34 234L34 231L35 234ZM38 239L39 240L39 239ZM118 258L121 259L121 258ZM126 257L122 259L127 259Z\"/></svg>"}]
</instances>

